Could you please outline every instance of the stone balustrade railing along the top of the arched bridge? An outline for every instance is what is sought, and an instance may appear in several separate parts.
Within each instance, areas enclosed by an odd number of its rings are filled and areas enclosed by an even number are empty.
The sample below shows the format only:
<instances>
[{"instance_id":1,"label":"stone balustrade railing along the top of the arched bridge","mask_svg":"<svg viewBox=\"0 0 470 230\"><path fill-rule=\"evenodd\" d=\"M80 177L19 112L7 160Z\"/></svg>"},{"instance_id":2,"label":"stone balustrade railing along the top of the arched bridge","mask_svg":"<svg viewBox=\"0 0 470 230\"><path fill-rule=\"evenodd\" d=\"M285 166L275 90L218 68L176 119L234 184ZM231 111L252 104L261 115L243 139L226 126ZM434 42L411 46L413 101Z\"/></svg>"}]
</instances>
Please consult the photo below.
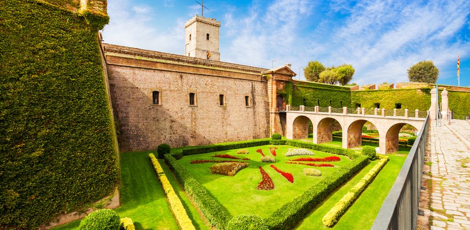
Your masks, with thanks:
<instances>
[{"instance_id":1,"label":"stone balustrade railing along the top of the arched bridge","mask_svg":"<svg viewBox=\"0 0 470 230\"><path fill-rule=\"evenodd\" d=\"M303 110L302 110L303 109ZM405 118L426 118L428 111L420 111L416 110L409 110L409 109L383 109L383 108L332 108L332 107L305 107L301 106L290 106L287 105L287 111L306 111L306 112L322 112L322 113L341 113L345 114L344 110L346 110L347 114L361 114L365 115L374 115L374 116L381 116L381 117L405 117Z\"/></svg>"}]
</instances>

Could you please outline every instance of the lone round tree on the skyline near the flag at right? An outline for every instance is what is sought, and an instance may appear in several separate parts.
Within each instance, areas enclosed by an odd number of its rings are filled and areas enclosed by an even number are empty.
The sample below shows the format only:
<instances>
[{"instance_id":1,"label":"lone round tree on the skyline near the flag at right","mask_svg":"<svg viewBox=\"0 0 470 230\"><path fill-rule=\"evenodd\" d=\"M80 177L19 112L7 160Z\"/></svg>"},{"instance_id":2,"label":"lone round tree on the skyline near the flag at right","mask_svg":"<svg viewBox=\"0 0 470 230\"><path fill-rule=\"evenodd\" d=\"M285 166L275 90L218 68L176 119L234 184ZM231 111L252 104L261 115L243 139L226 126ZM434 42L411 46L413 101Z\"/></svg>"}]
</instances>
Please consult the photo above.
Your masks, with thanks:
<instances>
[{"instance_id":1,"label":"lone round tree on the skyline near the flag at right","mask_svg":"<svg viewBox=\"0 0 470 230\"><path fill-rule=\"evenodd\" d=\"M433 61L420 61L408 69L410 82L423 82L435 84L438 80L439 69Z\"/></svg>"}]
</instances>

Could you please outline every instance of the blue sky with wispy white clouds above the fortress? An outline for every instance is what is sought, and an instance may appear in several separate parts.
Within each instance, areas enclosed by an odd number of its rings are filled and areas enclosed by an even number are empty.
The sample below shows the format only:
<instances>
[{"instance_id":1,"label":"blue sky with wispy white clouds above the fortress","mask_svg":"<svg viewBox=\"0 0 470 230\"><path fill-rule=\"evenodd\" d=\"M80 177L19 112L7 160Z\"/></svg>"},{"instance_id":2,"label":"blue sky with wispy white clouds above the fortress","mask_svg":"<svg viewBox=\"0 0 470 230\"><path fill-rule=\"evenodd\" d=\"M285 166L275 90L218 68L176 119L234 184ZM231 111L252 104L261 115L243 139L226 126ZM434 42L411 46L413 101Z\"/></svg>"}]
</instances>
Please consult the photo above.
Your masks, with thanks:
<instances>
[{"instance_id":1,"label":"blue sky with wispy white clouds above the fortress","mask_svg":"<svg viewBox=\"0 0 470 230\"><path fill-rule=\"evenodd\" d=\"M433 60L438 83L470 86L470 1L214 1L204 16L221 21L221 61L264 68L291 63L303 78L308 61L352 64L351 82L408 82L407 69ZM184 53L184 22L193 0L108 1L106 43Z\"/></svg>"}]
</instances>

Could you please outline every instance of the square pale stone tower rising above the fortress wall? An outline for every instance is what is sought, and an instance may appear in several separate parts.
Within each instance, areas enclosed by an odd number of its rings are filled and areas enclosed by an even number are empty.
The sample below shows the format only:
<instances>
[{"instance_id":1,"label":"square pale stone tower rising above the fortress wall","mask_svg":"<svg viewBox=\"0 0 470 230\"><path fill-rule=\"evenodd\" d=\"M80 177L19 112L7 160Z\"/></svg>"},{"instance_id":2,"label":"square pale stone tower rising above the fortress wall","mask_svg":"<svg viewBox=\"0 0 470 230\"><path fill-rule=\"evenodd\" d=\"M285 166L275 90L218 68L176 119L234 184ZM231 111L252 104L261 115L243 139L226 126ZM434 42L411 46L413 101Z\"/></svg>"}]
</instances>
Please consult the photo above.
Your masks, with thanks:
<instances>
[{"instance_id":1,"label":"square pale stone tower rising above the fortress wall","mask_svg":"<svg viewBox=\"0 0 470 230\"><path fill-rule=\"evenodd\" d=\"M220 61L219 53L220 22L213 18L194 16L184 24L184 55L206 59L207 51L211 60Z\"/></svg>"}]
</instances>

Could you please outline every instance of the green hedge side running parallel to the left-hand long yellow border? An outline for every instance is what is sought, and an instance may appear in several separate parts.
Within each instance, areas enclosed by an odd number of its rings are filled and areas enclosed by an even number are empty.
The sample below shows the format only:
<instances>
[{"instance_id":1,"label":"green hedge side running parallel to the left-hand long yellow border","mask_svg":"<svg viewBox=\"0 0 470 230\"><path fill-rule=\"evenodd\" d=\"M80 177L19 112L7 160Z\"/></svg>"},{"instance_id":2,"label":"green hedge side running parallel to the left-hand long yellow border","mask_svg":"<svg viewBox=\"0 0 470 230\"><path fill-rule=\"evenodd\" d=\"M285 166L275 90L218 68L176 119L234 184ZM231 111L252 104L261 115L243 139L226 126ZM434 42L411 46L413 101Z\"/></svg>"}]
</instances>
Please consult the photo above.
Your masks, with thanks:
<instances>
[{"instance_id":1,"label":"green hedge side running parallel to the left-hand long yellow border","mask_svg":"<svg viewBox=\"0 0 470 230\"><path fill-rule=\"evenodd\" d=\"M217 227L217 229L224 229L230 216L224 211L219 202L171 154L165 155L165 162L175 173L176 178L184 190L186 190L188 196L198 205L199 210L204 214L207 221Z\"/></svg>"}]
</instances>

